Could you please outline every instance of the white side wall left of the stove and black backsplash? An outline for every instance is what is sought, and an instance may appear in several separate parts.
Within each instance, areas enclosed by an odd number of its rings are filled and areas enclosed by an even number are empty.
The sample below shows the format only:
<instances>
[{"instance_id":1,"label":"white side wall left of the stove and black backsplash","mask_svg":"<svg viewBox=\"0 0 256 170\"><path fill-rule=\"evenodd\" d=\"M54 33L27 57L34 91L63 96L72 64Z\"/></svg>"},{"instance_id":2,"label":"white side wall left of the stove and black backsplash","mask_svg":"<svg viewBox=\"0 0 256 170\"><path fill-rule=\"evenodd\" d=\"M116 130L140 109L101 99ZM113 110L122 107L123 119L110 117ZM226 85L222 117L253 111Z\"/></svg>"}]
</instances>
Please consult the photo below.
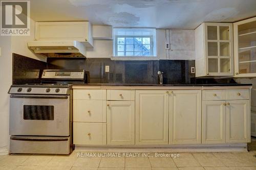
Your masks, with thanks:
<instances>
[{"instance_id":1,"label":"white side wall left of the stove and black backsplash","mask_svg":"<svg viewBox=\"0 0 256 170\"><path fill-rule=\"evenodd\" d=\"M7 93L12 84L12 53L24 55L41 61L45 57L35 55L28 46L27 41L34 40L35 22L31 20L30 36L0 36L0 155L9 152L9 94Z\"/></svg>"}]
</instances>

